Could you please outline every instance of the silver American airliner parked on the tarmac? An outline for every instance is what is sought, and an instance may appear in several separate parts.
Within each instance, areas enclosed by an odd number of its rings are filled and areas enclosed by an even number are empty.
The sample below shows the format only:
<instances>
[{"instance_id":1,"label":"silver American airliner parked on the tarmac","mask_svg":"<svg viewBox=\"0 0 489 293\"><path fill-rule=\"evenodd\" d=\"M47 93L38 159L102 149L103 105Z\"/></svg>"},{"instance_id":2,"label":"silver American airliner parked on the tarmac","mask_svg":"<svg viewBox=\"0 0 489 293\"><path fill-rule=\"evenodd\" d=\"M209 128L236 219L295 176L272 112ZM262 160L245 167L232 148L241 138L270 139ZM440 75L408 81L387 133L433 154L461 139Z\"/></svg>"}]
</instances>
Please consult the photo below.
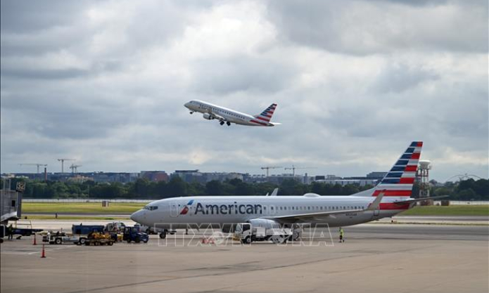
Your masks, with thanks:
<instances>
[{"instance_id":1,"label":"silver American airliner parked on the tarmac","mask_svg":"<svg viewBox=\"0 0 489 293\"><path fill-rule=\"evenodd\" d=\"M192 196L151 202L131 219L162 228L160 237L177 228L212 228L235 223L272 227L300 223L350 226L391 217L426 199L411 198L421 141L412 142L374 188L347 196ZM430 197L431 199L440 197Z\"/></svg>"}]
</instances>

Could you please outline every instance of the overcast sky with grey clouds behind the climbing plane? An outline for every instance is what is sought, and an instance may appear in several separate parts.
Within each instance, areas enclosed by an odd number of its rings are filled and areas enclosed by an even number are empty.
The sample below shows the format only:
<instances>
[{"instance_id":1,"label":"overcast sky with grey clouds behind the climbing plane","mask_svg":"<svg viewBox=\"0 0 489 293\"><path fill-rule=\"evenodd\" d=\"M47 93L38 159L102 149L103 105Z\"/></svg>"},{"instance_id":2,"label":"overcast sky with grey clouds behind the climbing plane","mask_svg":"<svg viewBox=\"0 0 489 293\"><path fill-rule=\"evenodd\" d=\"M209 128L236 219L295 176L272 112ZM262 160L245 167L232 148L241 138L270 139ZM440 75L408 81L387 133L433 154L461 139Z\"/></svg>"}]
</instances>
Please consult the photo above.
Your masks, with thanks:
<instances>
[{"instance_id":1,"label":"overcast sky with grey clouds behind the climbing plane","mask_svg":"<svg viewBox=\"0 0 489 293\"><path fill-rule=\"evenodd\" d=\"M488 177L488 1L1 1L1 172ZM277 127L220 126L183 104ZM273 170L282 173L283 170Z\"/></svg>"}]
</instances>

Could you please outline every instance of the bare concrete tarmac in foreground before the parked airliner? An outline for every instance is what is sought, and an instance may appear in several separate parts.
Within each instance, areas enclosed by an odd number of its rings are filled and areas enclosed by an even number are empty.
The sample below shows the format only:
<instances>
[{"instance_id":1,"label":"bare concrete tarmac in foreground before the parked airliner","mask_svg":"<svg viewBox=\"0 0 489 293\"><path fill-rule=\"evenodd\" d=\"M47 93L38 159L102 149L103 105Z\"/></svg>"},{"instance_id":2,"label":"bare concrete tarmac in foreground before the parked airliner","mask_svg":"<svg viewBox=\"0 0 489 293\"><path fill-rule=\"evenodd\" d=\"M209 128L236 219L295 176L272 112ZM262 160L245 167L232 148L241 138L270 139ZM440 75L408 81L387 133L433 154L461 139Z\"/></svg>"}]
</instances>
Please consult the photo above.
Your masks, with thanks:
<instances>
[{"instance_id":1,"label":"bare concrete tarmac in foreground before the parked airliner","mask_svg":"<svg viewBox=\"0 0 489 293\"><path fill-rule=\"evenodd\" d=\"M64 221L58 221L65 225ZM70 221L70 225L73 221ZM38 223L34 223L34 226ZM202 244L203 231L112 247L0 245L1 292L485 292L489 227L362 224L304 242ZM195 233L195 234L194 234ZM330 234L333 236L331 239ZM306 233L307 234L307 233ZM307 235L305 235L307 236Z\"/></svg>"}]
</instances>

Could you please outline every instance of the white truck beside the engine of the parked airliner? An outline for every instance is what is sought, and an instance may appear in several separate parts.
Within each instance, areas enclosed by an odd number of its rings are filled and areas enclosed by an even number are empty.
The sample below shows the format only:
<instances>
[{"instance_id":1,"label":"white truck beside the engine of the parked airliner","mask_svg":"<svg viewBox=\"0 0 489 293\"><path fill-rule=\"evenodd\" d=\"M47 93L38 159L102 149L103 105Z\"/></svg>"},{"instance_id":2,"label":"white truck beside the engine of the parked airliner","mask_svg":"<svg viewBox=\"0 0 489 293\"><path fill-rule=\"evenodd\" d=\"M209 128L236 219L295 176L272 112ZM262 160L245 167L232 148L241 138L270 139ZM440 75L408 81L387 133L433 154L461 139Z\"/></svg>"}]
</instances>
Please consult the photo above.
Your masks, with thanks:
<instances>
[{"instance_id":1,"label":"white truck beside the engine of the parked airliner","mask_svg":"<svg viewBox=\"0 0 489 293\"><path fill-rule=\"evenodd\" d=\"M234 236L242 243L249 244L255 241L269 241L276 244L287 242L293 236L293 232L289 228L279 226L260 226L252 223L238 223Z\"/></svg>"}]
</instances>

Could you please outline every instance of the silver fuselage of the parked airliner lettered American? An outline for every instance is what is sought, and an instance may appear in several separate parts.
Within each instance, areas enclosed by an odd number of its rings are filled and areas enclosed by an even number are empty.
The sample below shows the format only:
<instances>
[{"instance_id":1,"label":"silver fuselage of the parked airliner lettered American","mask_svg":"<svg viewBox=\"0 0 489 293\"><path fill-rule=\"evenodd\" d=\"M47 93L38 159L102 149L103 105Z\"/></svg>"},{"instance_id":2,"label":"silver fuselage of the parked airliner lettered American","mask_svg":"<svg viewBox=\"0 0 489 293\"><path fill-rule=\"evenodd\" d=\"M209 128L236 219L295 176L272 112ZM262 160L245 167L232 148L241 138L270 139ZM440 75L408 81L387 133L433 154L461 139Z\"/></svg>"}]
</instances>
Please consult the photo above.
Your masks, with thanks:
<instances>
[{"instance_id":1,"label":"silver fuselage of the parked airliner lettered American","mask_svg":"<svg viewBox=\"0 0 489 293\"><path fill-rule=\"evenodd\" d=\"M206 196L175 197L151 202L131 217L138 223L158 228L186 228L198 224L242 223L288 214L318 214L326 211L367 209L372 197L355 196ZM394 200L394 199L392 199ZM374 211L356 211L336 216L317 216L307 223L327 223L330 227L366 223L405 211L409 204L382 202ZM297 222L295 222L297 223Z\"/></svg>"}]
</instances>

